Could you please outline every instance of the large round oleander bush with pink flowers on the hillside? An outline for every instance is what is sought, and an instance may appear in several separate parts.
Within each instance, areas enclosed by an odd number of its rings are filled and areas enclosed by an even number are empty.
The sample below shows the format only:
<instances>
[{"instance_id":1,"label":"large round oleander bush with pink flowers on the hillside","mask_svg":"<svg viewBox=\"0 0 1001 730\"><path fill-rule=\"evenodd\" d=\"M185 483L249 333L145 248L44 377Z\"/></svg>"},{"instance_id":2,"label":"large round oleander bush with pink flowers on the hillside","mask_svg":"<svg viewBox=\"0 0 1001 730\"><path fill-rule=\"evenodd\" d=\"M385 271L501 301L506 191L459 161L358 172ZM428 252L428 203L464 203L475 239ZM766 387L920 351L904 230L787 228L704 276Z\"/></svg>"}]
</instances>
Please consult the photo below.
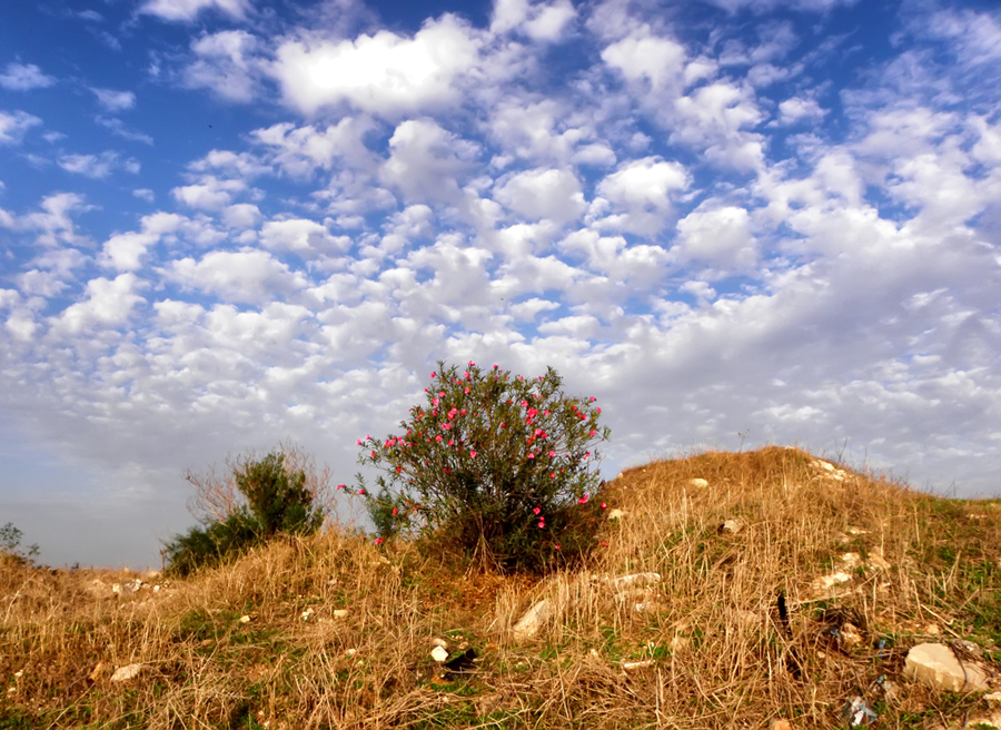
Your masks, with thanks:
<instances>
[{"instance_id":1,"label":"large round oleander bush with pink flowers on the hillside","mask_svg":"<svg viewBox=\"0 0 1001 730\"><path fill-rule=\"evenodd\" d=\"M605 503L594 444L595 398L565 395L553 368L535 379L469 362L432 373L400 432L358 441L384 471L378 494L359 476L377 542L429 536L503 570L545 571L583 558ZM343 485L341 485L343 487Z\"/></svg>"}]
</instances>

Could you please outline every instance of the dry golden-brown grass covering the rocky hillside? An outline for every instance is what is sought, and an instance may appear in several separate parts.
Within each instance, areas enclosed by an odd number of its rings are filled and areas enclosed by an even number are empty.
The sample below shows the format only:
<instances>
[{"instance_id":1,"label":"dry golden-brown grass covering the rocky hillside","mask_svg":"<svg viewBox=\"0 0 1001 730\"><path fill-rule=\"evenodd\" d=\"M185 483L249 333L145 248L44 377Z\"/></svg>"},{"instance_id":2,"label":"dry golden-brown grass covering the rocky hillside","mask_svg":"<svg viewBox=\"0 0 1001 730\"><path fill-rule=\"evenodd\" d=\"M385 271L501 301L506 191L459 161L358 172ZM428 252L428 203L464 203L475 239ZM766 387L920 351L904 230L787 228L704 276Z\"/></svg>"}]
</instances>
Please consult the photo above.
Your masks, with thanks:
<instances>
[{"instance_id":1,"label":"dry golden-brown grass covering the rocky hillside","mask_svg":"<svg viewBox=\"0 0 1001 730\"><path fill-rule=\"evenodd\" d=\"M625 515L593 563L542 582L340 531L156 593L111 593L122 574L4 564L0 728L824 728L844 727L855 696L880 727L959 727L982 699L900 672L932 632L1001 661L998 501L824 464L771 447L630 470L609 499ZM721 531L726 520L742 529ZM851 580L835 594L814 586L836 570ZM660 582L623 595L606 580L643 572ZM541 599L553 615L516 641ZM474 648L477 673L443 678L434 638ZM640 660L652 662L623 668ZM110 680L131 663L135 679Z\"/></svg>"}]
</instances>

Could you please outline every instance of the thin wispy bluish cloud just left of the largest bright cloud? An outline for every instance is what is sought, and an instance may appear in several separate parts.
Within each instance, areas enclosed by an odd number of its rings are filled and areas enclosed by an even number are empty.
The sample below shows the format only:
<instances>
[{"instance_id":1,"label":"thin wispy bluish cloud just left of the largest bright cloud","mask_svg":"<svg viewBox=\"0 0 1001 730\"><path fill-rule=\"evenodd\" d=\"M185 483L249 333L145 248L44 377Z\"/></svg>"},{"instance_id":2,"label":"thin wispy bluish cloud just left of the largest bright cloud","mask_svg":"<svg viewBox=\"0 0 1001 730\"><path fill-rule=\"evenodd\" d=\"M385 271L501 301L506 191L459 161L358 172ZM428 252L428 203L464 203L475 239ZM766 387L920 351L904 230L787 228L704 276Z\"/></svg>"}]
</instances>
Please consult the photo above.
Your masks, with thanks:
<instances>
[{"instance_id":1,"label":"thin wispy bluish cloud just left of the largest bright cloud","mask_svg":"<svg viewBox=\"0 0 1001 730\"><path fill-rule=\"evenodd\" d=\"M191 50L197 57L185 67L182 81L191 89L209 89L227 101L250 101L257 93L258 40L244 30L202 36Z\"/></svg>"}]
</instances>

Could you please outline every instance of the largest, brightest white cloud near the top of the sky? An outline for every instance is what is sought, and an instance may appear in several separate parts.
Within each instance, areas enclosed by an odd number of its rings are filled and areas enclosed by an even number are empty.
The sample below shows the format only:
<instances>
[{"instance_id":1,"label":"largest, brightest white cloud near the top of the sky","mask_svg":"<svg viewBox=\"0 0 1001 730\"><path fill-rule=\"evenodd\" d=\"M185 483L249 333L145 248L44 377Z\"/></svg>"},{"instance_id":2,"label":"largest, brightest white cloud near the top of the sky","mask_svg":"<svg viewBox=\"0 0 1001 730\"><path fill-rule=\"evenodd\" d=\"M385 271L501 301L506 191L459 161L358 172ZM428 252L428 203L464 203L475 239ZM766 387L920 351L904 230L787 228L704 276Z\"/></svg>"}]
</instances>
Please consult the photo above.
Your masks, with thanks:
<instances>
[{"instance_id":1,"label":"largest, brightest white cloud near the top of the sky","mask_svg":"<svg viewBox=\"0 0 1001 730\"><path fill-rule=\"evenodd\" d=\"M444 16L413 38L383 30L354 41L286 41L271 72L286 101L305 114L349 103L395 118L456 100L479 46L468 27Z\"/></svg>"}]
</instances>

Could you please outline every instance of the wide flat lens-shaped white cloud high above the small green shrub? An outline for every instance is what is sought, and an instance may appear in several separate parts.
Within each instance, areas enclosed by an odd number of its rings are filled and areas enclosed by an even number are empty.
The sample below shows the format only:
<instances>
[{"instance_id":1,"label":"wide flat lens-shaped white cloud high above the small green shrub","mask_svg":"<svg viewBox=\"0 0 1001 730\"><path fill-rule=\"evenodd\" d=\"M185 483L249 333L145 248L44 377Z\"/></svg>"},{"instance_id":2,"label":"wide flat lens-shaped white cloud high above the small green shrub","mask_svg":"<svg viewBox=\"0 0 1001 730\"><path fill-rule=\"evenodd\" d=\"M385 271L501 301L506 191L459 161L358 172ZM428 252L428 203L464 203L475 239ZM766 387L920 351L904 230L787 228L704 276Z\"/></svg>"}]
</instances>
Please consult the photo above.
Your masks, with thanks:
<instances>
[{"instance_id":1,"label":"wide flat lens-shaped white cloud high above the small green shrub","mask_svg":"<svg viewBox=\"0 0 1001 730\"><path fill-rule=\"evenodd\" d=\"M182 258L170 264L167 276L178 284L219 297L224 302L260 304L285 297L306 285L267 251L241 248L216 250L200 260Z\"/></svg>"}]
</instances>

